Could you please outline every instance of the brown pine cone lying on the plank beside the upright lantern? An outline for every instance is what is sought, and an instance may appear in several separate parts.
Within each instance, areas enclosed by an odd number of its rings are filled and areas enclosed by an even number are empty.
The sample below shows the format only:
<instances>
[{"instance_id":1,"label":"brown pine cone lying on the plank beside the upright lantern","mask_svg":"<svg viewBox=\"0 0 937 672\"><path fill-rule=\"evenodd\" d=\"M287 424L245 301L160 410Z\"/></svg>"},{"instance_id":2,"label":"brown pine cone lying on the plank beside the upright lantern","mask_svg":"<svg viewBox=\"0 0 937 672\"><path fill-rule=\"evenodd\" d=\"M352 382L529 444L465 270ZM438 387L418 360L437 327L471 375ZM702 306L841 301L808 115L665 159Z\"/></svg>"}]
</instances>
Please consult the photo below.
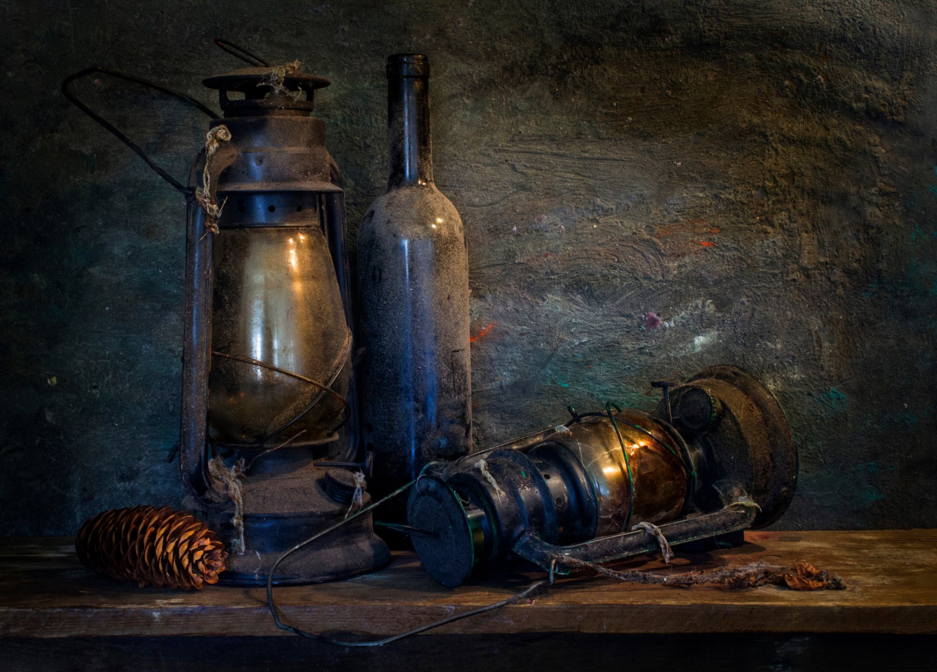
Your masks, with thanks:
<instances>
[{"instance_id":1,"label":"brown pine cone lying on the plank beside the upright lantern","mask_svg":"<svg viewBox=\"0 0 937 672\"><path fill-rule=\"evenodd\" d=\"M216 583L228 553L200 520L169 506L111 509L86 521L75 539L84 566L140 587L201 589Z\"/></svg>"}]
</instances>

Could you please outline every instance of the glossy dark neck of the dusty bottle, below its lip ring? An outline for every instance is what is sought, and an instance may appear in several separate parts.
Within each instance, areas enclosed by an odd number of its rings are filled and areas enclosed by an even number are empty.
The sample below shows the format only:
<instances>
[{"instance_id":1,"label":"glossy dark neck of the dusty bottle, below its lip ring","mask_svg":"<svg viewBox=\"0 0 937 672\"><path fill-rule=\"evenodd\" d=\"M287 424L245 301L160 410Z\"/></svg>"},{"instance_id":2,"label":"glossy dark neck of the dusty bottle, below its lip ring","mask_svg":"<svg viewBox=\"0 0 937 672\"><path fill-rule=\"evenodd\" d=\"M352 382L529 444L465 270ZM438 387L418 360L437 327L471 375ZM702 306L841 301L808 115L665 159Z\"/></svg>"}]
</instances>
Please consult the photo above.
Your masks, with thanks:
<instances>
[{"instance_id":1,"label":"glossy dark neck of the dusty bottle, below its lip ring","mask_svg":"<svg viewBox=\"0 0 937 672\"><path fill-rule=\"evenodd\" d=\"M391 160L387 188L433 183L428 77L388 77L387 136Z\"/></svg>"}]
</instances>

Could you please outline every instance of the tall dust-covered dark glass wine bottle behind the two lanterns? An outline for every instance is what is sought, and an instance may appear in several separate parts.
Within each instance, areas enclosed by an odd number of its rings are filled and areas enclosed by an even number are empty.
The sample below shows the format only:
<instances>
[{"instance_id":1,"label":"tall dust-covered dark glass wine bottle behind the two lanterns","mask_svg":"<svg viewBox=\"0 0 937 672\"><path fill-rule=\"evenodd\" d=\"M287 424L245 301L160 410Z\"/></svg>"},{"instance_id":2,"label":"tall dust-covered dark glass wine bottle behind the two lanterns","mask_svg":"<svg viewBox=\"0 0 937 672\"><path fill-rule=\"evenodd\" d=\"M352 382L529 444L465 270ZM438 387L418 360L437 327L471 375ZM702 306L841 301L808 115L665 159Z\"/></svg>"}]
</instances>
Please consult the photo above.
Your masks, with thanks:
<instances>
[{"instance_id":1,"label":"tall dust-covered dark glass wine bottle behind the two lanterns","mask_svg":"<svg viewBox=\"0 0 937 672\"><path fill-rule=\"evenodd\" d=\"M390 178L358 231L364 445L375 454L376 498L471 442L468 253L459 213L433 183L429 60L390 56L387 80Z\"/></svg>"}]
</instances>

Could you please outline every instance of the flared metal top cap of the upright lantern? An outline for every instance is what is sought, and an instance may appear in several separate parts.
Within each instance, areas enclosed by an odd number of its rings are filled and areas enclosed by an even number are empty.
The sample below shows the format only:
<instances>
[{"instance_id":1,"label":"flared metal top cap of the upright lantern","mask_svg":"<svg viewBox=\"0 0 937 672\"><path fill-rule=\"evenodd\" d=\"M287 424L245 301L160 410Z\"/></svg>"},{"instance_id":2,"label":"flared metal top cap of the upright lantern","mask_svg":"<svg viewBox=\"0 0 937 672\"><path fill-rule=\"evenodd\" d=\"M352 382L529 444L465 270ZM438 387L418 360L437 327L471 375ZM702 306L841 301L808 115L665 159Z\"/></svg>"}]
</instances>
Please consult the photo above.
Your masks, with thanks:
<instances>
[{"instance_id":1,"label":"flared metal top cap of the upright lantern","mask_svg":"<svg viewBox=\"0 0 937 672\"><path fill-rule=\"evenodd\" d=\"M332 82L319 75L291 70L290 66L280 66L245 67L209 77L201 83L217 89L221 110L227 117L308 113L315 107L313 92ZM229 92L243 97L231 98Z\"/></svg>"}]
</instances>

